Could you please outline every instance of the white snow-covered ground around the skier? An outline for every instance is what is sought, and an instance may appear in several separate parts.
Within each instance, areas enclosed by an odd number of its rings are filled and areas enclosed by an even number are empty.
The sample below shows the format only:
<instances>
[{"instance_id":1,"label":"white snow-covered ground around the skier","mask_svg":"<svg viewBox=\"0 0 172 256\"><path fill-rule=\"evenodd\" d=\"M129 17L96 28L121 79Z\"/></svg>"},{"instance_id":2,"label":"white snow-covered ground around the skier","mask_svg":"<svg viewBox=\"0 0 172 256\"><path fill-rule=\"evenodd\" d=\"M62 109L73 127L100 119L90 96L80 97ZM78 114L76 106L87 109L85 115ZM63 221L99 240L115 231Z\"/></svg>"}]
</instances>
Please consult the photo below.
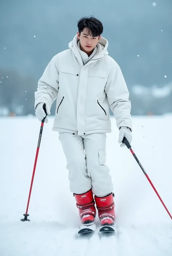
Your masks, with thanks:
<instances>
[{"instance_id":1,"label":"white snow-covered ground around the skier","mask_svg":"<svg viewBox=\"0 0 172 256\"><path fill-rule=\"evenodd\" d=\"M172 116L134 117L132 149L172 214ZM114 182L116 235L78 236L78 209L53 117L44 125L26 210L40 122L0 118L0 256L171 256L172 220L130 150L120 148L112 118L107 162Z\"/></svg>"}]
</instances>

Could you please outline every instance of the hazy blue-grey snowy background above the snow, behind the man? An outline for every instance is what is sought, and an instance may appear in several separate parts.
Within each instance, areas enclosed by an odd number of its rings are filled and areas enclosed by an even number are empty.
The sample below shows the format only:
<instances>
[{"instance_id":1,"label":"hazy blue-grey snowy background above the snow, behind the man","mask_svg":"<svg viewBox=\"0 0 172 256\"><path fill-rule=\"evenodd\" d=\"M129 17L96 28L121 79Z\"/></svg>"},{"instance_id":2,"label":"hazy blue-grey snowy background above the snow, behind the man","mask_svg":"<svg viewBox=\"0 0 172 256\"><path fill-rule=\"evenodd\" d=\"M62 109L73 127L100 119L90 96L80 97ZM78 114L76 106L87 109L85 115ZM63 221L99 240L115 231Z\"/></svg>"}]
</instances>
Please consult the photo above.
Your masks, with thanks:
<instances>
[{"instance_id":1,"label":"hazy blue-grey snowy background above the snow, behind the man","mask_svg":"<svg viewBox=\"0 0 172 256\"><path fill-rule=\"evenodd\" d=\"M89 15L103 23L132 115L172 113L172 0L1 0L1 116L34 114L38 79L50 59L68 48L77 21Z\"/></svg>"}]
</instances>

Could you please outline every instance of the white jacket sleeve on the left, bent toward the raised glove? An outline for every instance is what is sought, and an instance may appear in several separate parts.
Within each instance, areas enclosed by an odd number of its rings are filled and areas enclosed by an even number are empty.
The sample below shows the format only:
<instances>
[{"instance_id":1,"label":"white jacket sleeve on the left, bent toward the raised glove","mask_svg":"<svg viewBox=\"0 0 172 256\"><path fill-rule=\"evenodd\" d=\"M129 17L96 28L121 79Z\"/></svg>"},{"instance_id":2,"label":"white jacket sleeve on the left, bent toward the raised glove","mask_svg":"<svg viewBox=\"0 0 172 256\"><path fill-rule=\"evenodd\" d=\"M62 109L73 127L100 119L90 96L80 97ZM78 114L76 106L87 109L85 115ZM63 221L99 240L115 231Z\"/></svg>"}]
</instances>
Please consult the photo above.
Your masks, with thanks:
<instances>
[{"instance_id":1,"label":"white jacket sleeve on the left, bent toward the raised glove","mask_svg":"<svg viewBox=\"0 0 172 256\"><path fill-rule=\"evenodd\" d=\"M38 81L37 91L34 93L35 104L34 107L40 102L48 103L52 106L54 100L57 98L58 93L58 60L57 55L50 60L46 66L42 77Z\"/></svg>"}]
</instances>

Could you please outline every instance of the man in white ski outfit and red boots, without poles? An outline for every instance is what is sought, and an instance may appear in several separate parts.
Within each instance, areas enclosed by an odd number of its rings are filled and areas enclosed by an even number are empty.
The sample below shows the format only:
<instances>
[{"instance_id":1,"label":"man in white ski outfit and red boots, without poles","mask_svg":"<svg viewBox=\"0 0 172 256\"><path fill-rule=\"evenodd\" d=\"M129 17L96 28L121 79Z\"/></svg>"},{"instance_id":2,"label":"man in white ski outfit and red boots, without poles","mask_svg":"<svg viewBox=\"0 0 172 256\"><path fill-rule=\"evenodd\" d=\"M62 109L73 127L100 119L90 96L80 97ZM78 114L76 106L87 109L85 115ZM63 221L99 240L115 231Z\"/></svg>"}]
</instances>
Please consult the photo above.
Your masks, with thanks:
<instances>
[{"instance_id":1,"label":"man in white ski outfit and red boots, without poles","mask_svg":"<svg viewBox=\"0 0 172 256\"><path fill-rule=\"evenodd\" d=\"M70 191L82 225L94 224L96 203L101 226L113 226L113 184L105 165L106 133L111 132L109 106L119 129L119 143L124 136L131 143L131 103L122 72L108 56L108 41L101 37L102 32L102 23L94 17L78 21L69 49L52 58L38 81L35 109L41 121L45 117L43 104L50 115L56 99L53 130L59 131Z\"/></svg>"}]
</instances>

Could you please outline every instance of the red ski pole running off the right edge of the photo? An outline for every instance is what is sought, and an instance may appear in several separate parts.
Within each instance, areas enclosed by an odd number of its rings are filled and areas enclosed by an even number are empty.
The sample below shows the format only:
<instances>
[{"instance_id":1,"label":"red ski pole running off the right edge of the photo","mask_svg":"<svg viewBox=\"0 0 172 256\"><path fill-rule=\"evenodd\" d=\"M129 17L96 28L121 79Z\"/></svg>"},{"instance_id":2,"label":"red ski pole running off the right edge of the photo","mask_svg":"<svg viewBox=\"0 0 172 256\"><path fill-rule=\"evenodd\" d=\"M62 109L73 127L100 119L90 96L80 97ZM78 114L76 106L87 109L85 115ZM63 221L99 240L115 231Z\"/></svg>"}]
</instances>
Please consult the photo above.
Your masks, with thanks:
<instances>
[{"instance_id":1,"label":"red ski pole running off the right edge of the photo","mask_svg":"<svg viewBox=\"0 0 172 256\"><path fill-rule=\"evenodd\" d=\"M161 199L160 195L158 194L156 188L153 186L153 183L151 182L150 178L148 177L148 175L147 175L146 171L144 170L142 164L139 162L139 159L136 157L136 155L135 155L134 151L132 150L131 145L130 145L130 143L128 142L128 140L126 139L126 137L123 138L122 143L124 143L124 144L127 146L127 148L130 149L132 155L133 155L134 158L136 159L137 163L139 164L140 168L142 169L143 173L145 174L146 178L148 179L148 181L150 182L152 188L154 189L156 195L159 197L159 199L160 199L161 203L163 204L165 210L168 212L170 218L172 219L171 214L169 213L169 211L168 211L167 207L165 206L163 200Z\"/></svg>"}]
</instances>

